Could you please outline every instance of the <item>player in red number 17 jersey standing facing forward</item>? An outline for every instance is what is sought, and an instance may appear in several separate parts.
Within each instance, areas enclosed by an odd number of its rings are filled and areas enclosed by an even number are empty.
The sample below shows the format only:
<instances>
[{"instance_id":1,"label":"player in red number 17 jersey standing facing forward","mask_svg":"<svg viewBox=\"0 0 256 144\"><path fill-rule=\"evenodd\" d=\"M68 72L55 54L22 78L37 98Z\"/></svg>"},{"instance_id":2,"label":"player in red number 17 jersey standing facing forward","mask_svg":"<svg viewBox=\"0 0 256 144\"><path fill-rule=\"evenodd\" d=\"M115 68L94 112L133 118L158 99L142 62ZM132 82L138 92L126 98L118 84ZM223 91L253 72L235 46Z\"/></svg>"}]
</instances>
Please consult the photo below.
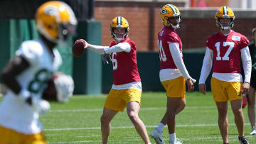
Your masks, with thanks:
<instances>
[{"instance_id":1,"label":"player in red number 17 jersey standing facing forward","mask_svg":"<svg viewBox=\"0 0 256 144\"><path fill-rule=\"evenodd\" d=\"M228 143L228 100L235 116L238 128L238 139L242 144L248 143L244 137L244 116L242 113L242 94L250 89L252 62L248 48L249 40L231 28L235 15L228 6L220 7L215 14L219 32L211 35L206 41L206 54L203 59L199 91L206 94L206 78L213 65L210 80L213 99L218 109L218 126L223 143ZM242 58L245 81L240 74L240 58Z\"/></svg>"}]
</instances>

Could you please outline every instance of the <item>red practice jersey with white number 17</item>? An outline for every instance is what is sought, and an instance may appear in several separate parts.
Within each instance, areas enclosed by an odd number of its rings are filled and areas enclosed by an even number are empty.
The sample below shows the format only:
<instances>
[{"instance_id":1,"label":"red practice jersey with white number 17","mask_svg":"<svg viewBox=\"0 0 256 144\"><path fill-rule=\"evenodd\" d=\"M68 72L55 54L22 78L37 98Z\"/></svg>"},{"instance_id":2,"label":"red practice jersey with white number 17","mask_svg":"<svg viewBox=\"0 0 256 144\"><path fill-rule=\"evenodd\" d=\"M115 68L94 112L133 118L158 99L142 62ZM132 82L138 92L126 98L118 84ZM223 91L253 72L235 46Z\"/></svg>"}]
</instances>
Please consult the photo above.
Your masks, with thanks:
<instances>
[{"instance_id":1,"label":"red practice jersey with white number 17","mask_svg":"<svg viewBox=\"0 0 256 144\"><path fill-rule=\"evenodd\" d=\"M223 33L211 35L206 41L206 46L213 50L213 72L240 73L240 50L248 44L249 40L245 35L235 31L227 36Z\"/></svg>"}]
</instances>

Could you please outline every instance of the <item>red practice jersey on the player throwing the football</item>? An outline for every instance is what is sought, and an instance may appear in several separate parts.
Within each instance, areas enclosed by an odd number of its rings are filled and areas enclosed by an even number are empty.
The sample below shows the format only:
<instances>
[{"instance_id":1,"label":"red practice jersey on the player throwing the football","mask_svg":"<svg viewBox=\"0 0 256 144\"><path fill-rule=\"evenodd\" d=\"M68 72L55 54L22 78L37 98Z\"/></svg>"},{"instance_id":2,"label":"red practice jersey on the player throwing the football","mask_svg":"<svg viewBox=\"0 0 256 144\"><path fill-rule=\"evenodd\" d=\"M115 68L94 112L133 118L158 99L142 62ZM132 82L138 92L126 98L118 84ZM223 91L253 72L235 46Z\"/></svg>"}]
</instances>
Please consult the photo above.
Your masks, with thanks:
<instances>
[{"instance_id":1,"label":"red practice jersey on the player throwing the football","mask_svg":"<svg viewBox=\"0 0 256 144\"><path fill-rule=\"evenodd\" d=\"M129 38L122 40L120 43L124 42L131 45L130 52L112 52L111 54L115 85L141 81L137 67L136 45ZM110 44L110 48L114 45L117 45L115 41Z\"/></svg>"}]
</instances>

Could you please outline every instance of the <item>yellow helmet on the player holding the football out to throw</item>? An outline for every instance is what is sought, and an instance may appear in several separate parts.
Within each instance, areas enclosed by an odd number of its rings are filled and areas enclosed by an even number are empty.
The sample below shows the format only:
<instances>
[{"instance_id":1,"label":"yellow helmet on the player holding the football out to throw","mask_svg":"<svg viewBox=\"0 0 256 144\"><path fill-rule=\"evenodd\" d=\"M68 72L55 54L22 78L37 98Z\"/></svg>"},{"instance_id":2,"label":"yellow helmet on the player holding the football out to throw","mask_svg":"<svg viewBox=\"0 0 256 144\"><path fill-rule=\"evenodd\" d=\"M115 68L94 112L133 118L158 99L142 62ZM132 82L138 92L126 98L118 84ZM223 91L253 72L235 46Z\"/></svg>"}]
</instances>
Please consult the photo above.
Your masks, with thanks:
<instances>
[{"instance_id":1,"label":"yellow helmet on the player holding the football out to throw","mask_svg":"<svg viewBox=\"0 0 256 144\"><path fill-rule=\"evenodd\" d=\"M115 28L124 28L125 29L123 38L117 38L117 35L114 34ZM114 40L117 40L117 41L124 40L125 38L128 37L128 34L129 34L128 21L122 16L115 17L114 19L112 19L112 21L110 23L110 32L111 32L112 38L114 38Z\"/></svg>"}]
</instances>

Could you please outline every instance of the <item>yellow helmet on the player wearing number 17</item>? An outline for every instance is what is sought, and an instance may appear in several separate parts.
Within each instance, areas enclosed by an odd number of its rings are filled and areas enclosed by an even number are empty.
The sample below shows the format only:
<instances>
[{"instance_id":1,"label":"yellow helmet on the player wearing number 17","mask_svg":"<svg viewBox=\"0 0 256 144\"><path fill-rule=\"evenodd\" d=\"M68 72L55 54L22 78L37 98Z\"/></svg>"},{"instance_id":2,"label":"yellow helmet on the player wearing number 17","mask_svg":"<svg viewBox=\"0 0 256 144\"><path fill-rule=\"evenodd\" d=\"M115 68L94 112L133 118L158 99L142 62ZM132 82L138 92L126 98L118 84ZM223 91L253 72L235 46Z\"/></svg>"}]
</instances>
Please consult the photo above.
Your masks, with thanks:
<instances>
[{"instance_id":1,"label":"yellow helmet on the player wearing number 17","mask_svg":"<svg viewBox=\"0 0 256 144\"><path fill-rule=\"evenodd\" d=\"M220 18L230 18L231 21L229 23L229 26L223 26L220 23ZM218 28L221 28L223 30L230 30L234 26L235 14L228 6L222 6L216 11L215 20Z\"/></svg>"}]
</instances>

